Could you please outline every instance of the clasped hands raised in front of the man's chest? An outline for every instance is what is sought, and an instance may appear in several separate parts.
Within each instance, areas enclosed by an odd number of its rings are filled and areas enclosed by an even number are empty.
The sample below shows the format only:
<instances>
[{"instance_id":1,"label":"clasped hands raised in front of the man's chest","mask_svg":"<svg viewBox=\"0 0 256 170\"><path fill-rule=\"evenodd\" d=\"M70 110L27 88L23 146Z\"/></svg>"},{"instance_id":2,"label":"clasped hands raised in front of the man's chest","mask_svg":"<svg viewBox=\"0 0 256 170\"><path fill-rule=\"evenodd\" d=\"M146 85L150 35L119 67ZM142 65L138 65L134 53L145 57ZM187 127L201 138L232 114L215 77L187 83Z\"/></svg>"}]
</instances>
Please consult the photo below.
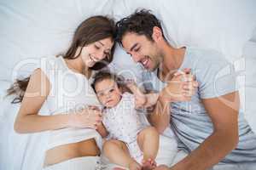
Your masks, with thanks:
<instances>
[{"instance_id":1,"label":"clasped hands raised in front of the man's chest","mask_svg":"<svg viewBox=\"0 0 256 170\"><path fill-rule=\"evenodd\" d=\"M160 99L166 102L189 101L198 88L198 82L189 69L174 74L166 88L160 92Z\"/></svg>"}]
</instances>

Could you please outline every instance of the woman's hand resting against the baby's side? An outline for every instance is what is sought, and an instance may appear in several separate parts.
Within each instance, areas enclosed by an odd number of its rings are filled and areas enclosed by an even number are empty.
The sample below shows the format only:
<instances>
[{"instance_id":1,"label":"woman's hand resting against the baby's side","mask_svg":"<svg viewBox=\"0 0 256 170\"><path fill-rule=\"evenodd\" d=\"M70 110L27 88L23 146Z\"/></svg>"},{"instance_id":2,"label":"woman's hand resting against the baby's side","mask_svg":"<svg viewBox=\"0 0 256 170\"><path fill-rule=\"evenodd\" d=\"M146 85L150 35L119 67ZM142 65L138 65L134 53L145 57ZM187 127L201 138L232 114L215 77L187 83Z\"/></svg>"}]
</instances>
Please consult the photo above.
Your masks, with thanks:
<instances>
[{"instance_id":1,"label":"woman's hand resting against the baby's side","mask_svg":"<svg viewBox=\"0 0 256 170\"><path fill-rule=\"evenodd\" d=\"M102 122L102 111L96 106L70 114L70 127L90 127L96 129L97 125Z\"/></svg>"}]
</instances>

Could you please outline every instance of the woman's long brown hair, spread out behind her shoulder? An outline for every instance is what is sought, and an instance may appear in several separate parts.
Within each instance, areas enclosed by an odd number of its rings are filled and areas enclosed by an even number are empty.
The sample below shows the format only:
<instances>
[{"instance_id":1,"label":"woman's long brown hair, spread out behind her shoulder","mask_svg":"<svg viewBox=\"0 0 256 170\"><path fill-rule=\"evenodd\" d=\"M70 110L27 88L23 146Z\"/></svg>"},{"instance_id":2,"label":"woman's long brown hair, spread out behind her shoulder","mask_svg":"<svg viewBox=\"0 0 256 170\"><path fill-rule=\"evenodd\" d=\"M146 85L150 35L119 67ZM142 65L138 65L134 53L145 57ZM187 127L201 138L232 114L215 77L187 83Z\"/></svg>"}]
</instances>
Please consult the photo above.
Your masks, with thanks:
<instances>
[{"instance_id":1,"label":"woman's long brown hair, spread out behind her shoulder","mask_svg":"<svg viewBox=\"0 0 256 170\"><path fill-rule=\"evenodd\" d=\"M92 16L87 20L84 20L79 27L76 29L73 35L73 41L70 47L67 49L66 54L63 54L64 59L76 59L81 54L82 48L78 55L76 51L79 47L84 47L90 43L97 42L105 38L112 38L114 41L115 37L115 25L112 19L106 16ZM108 65L113 59L114 45L111 49L111 53L106 56L102 61L97 62L91 70L100 70ZM20 103L26 92L26 87L30 77L24 79L16 79L12 86L7 89L7 95L15 94L15 99L11 102L12 104Z\"/></svg>"}]
</instances>

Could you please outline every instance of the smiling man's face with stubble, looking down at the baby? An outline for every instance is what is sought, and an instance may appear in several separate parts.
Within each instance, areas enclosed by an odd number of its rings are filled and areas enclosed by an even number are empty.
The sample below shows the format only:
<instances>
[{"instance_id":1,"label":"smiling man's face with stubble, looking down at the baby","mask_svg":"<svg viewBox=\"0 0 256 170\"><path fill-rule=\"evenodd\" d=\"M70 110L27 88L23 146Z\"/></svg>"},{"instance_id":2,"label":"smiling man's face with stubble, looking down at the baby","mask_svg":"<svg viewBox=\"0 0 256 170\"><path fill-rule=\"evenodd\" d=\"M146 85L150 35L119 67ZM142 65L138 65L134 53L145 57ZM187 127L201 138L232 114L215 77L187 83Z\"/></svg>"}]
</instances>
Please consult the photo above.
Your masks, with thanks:
<instances>
[{"instance_id":1,"label":"smiling man's face with stubble, looking down at the baby","mask_svg":"<svg viewBox=\"0 0 256 170\"><path fill-rule=\"evenodd\" d=\"M134 32L127 32L122 39L123 47L132 59L143 65L148 71L154 71L160 65L162 55L155 42L146 36Z\"/></svg>"}]
</instances>

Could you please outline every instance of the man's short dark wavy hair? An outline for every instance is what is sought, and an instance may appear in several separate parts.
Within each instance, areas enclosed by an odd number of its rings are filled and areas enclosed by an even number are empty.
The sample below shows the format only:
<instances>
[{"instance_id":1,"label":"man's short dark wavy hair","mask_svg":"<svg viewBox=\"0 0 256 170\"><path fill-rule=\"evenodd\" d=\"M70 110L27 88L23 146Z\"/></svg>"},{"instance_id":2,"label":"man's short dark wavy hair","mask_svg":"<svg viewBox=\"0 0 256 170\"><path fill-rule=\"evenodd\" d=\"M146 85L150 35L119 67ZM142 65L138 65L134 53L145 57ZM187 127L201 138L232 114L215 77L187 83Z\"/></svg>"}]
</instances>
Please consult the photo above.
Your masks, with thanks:
<instances>
[{"instance_id":1,"label":"man's short dark wavy hair","mask_svg":"<svg viewBox=\"0 0 256 170\"><path fill-rule=\"evenodd\" d=\"M148 40L153 41L152 34L154 26L162 30L160 20L158 20L150 10L144 8L141 10L137 9L135 13L116 23L116 41L122 45L122 38L127 32L135 32L138 35L144 35Z\"/></svg>"}]
</instances>

